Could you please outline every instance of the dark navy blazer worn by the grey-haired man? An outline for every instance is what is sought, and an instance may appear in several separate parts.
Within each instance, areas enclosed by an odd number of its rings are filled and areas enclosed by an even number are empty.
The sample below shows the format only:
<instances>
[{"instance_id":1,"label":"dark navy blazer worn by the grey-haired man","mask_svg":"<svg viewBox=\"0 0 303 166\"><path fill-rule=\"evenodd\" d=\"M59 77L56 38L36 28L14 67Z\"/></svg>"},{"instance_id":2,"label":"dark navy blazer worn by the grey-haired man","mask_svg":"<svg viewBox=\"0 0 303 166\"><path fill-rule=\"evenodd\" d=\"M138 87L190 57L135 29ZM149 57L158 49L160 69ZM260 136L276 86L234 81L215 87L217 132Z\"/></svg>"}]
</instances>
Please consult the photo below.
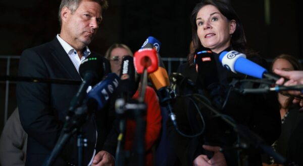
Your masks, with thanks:
<instances>
[{"instance_id":1,"label":"dark navy blazer worn by the grey-haired man","mask_svg":"<svg viewBox=\"0 0 303 166\"><path fill-rule=\"evenodd\" d=\"M91 53L91 55L98 56L95 53ZM104 61L108 65L109 62L105 58ZM81 80L57 37L51 42L23 51L19 64L19 75ZM17 83L20 120L24 130L28 133L26 165L41 165L49 156L60 136L70 101L78 87L78 85L33 82ZM84 148L85 164L88 164L92 157L96 139L96 119L101 121L98 125L103 129L98 130L98 140L100 140L98 144L103 144L105 141L107 112L104 111L104 114L101 118L95 115L90 116L83 125L84 137L88 139L88 146ZM67 143L55 165L66 165L67 162L77 164L75 136Z\"/></svg>"}]
</instances>

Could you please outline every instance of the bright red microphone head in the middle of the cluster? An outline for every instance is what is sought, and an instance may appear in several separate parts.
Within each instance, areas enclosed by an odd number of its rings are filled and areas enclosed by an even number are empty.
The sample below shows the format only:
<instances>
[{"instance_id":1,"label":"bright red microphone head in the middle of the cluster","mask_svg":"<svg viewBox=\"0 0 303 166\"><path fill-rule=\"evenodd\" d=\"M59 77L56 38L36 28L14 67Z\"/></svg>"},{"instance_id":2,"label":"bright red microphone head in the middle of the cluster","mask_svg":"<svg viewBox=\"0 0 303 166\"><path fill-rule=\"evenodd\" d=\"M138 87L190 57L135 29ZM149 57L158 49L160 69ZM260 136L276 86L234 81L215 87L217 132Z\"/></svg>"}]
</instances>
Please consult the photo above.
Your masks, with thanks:
<instances>
[{"instance_id":1,"label":"bright red microphone head in the middle of the cluster","mask_svg":"<svg viewBox=\"0 0 303 166\"><path fill-rule=\"evenodd\" d=\"M147 73L156 71L159 66L158 61L157 51L154 48L139 49L134 54L134 65L139 74L143 73L144 68L147 69Z\"/></svg>"}]
</instances>

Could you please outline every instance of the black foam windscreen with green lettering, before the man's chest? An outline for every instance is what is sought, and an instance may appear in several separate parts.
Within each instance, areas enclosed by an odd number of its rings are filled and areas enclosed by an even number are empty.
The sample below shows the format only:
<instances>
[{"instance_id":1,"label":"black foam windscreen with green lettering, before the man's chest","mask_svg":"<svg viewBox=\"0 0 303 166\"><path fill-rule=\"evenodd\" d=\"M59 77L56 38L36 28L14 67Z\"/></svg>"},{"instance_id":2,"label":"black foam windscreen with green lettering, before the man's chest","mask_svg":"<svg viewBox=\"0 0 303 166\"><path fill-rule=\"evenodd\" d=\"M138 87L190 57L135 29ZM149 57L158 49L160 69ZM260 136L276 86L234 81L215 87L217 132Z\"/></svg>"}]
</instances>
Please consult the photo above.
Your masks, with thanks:
<instances>
[{"instance_id":1,"label":"black foam windscreen with green lettering, before the man's chest","mask_svg":"<svg viewBox=\"0 0 303 166\"><path fill-rule=\"evenodd\" d=\"M80 76L83 78L87 72L94 75L91 85L97 84L98 81L102 80L104 75L103 59L99 56L88 56L83 60L79 67Z\"/></svg>"}]
</instances>

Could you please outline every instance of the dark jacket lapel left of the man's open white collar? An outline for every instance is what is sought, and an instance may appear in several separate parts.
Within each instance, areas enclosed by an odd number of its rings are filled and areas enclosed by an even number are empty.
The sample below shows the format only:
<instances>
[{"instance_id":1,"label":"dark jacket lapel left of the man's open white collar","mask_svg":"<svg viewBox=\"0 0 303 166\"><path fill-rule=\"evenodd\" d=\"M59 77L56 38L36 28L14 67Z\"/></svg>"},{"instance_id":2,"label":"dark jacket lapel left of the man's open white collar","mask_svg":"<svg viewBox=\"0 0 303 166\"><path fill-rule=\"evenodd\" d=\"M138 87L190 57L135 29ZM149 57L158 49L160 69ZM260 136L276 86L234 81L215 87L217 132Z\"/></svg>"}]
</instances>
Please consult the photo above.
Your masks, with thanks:
<instances>
[{"instance_id":1,"label":"dark jacket lapel left of the man's open white collar","mask_svg":"<svg viewBox=\"0 0 303 166\"><path fill-rule=\"evenodd\" d=\"M52 55L57 59L58 63L69 73L69 75L76 80L81 80L77 69L75 68L73 62L69 58L68 54L65 52L64 48L58 41L57 37L51 41L51 49L53 49Z\"/></svg>"}]
</instances>

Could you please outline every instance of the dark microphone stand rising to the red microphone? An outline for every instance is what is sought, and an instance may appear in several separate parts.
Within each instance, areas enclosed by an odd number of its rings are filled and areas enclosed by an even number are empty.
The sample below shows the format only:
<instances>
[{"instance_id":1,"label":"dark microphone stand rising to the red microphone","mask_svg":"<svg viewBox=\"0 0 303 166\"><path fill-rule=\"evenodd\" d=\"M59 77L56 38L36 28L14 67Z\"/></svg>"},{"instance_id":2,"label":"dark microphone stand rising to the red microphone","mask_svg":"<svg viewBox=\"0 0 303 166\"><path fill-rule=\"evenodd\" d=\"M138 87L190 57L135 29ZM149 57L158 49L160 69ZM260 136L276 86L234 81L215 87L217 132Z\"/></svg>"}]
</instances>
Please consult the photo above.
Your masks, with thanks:
<instances>
[{"instance_id":1,"label":"dark microphone stand rising to the red microphone","mask_svg":"<svg viewBox=\"0 0 303 166\"><path fill-rule=\"evenodd\" d=\"M146 104L144 103L144 96L147 86L147 69L145 68L141 76L141 87L139 89L138 100L125 102L125 100L117 99L115 108L116 113L121 117L119 122L120 134L118 136L118 144L116 149L116 165L124 166L125 159L130 157L130 165L143 166L145 165L145 127L146 122L144 116L146 115ZM126 119L131 118L136 122L135 136L132 145L134 155L129 154L123 148L125 146L125 128ZM130 156L131 155L131 156Z\"/></svg>"}]
</instances>

